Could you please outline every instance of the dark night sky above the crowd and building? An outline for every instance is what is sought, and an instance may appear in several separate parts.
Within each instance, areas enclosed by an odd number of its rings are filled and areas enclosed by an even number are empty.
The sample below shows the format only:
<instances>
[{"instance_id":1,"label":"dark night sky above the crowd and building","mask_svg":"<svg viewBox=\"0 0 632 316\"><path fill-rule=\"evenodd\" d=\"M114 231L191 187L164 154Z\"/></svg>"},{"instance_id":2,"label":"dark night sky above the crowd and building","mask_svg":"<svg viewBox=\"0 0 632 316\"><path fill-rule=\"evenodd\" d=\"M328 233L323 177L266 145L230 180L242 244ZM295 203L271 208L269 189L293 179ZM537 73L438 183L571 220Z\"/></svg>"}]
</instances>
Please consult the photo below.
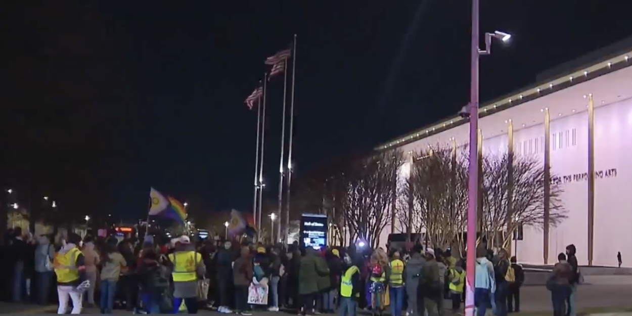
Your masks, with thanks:
<instances>
[{"instance_id":1,"label":"dark night sky above the crowd and building","mask_svg":"<svg viewBox=\"0 0 632 316\"><path fill-rule=\"evenodd\" d=\"M13 2L12 2L13 3ZM470 3L23 1L2 4L4 186L138 217L149 186L250 209L264 59L298 34L297 175L454 114L468 99ZM569 5L573 3L572 5ZM624 1L482 1L481 100L632 35ZM281 80L265 147L276 196Z\"/></svg>"}]
</instances>

